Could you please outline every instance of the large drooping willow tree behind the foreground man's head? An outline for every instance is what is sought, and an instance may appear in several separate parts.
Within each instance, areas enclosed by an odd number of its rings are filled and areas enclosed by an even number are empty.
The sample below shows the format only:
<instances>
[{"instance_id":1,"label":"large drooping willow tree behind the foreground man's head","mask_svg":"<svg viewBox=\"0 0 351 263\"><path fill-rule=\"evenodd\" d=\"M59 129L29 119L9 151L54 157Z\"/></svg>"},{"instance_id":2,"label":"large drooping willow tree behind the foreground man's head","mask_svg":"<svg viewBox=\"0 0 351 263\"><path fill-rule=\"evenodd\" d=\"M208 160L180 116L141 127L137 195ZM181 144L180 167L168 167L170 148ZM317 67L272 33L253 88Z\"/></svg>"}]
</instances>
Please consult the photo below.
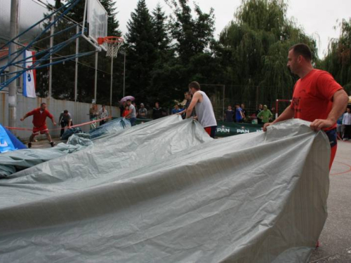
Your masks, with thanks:
<instances>
[{"instance_id":1,"label":"large drooping willow tree behind the foreground man's head","mask_svg":"<svg viewBox=\"0 0 351 263\"><path fill-rule=\"evenodd\" d=\"M314 39L287 18L284 0L242 0L241 6L220 34L220 53L227 85L236 87L237 100L256 97L260 102L291 97L296 76L286 67L289 47L307 43L317 59ZM256 90L256 88L254 89Z\"/></svg>"}]
</instances>

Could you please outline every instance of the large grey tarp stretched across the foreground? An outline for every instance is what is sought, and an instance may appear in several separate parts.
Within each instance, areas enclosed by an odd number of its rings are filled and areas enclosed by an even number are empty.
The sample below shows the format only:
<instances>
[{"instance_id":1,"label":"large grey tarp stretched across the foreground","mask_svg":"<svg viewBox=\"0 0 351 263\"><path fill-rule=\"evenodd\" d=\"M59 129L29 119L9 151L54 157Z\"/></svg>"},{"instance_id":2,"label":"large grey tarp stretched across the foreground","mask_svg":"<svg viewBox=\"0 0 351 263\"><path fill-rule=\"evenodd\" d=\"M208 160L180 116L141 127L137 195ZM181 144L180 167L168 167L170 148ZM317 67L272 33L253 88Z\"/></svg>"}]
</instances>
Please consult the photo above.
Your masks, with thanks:
<instances>
[{"instance_id":1,"label":"large grey tarp stretched across the foreground","mask_svg":"<svg viewBox=\"0 0 351 263\"><path fill-rule=\"evenodd\" d=\"M0 181L0 262L306 262L329 154L300 120L221 140L134 126Z\"/></svg>"}]
</instances>

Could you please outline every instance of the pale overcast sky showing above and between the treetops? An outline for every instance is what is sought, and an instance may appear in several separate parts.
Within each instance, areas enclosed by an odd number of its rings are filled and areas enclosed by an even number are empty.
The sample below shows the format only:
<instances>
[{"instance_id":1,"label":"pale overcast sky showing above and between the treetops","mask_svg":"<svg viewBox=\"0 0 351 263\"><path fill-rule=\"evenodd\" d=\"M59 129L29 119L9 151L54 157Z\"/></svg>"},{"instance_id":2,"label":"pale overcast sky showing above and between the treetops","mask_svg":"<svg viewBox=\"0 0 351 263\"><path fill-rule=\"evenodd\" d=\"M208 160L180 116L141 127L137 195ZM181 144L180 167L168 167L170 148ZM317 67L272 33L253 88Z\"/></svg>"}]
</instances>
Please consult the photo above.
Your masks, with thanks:
<instances>
[{"instance_id":1,"label":"pale overcast sky showing above and between the treetops","mask_svg":"<svg viewBox=\"0 0 351 263\"><path fill-rule=\"evenodd\" d=\"M192 3L192 1L190 1ZM241 0L197 0L201 10L208 12L214 8L216 18L215 36L227 25L234 16L234 12L240 5ZM136 8L138 0L117 0L116 7L117 19L119 20L120 29L123 34L126 33L126 23L131 18L131 12ZM164 7L166 14L171 12L166 6L164 0L146 0L147 6L152 11L157 3ZM351 0L290 0L288 16L295 18L298 25L305 29L305 33L318 36L317 46L319 48L319 57L322 58L328 48L329 40L339 36L340 30L333 29L337 20L351 17ZM318 43L319 42L319 43Z\"/></svg>"}]
</instances>

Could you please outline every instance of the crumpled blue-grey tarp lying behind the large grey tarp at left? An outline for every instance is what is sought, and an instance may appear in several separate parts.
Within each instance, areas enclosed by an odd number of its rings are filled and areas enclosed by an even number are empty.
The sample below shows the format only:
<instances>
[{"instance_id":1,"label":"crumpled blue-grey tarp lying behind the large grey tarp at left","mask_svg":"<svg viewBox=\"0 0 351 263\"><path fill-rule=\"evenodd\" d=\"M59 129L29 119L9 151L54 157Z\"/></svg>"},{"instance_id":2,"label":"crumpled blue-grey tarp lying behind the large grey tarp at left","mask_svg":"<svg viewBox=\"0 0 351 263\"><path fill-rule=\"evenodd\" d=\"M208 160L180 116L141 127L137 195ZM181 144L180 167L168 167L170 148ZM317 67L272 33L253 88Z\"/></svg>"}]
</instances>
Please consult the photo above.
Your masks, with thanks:
<instances>
[{"instance_id":1,"label":"crumpled blue-grey tarp lying behind the large grey tarp at left","mask_svg":"<svg viewBox=\"0 0 351 263\"><path fill-rule=\"evenodd\" d=\"M104 127L105 125L107 126ZM98 142L104 136L118 135L124 128L129 127L131 127L130 121L119 118L91 130L91 134L94 135L92 140L89 133L82 133L80 128L72 128L66 130L62 135L63 139L69 137L67 144L60 143L49 149L25 149L2 153L0 154L0 178L65 154L72 154L74 151L93 145L93 140Z\"/></svg>"}]
</instances>

